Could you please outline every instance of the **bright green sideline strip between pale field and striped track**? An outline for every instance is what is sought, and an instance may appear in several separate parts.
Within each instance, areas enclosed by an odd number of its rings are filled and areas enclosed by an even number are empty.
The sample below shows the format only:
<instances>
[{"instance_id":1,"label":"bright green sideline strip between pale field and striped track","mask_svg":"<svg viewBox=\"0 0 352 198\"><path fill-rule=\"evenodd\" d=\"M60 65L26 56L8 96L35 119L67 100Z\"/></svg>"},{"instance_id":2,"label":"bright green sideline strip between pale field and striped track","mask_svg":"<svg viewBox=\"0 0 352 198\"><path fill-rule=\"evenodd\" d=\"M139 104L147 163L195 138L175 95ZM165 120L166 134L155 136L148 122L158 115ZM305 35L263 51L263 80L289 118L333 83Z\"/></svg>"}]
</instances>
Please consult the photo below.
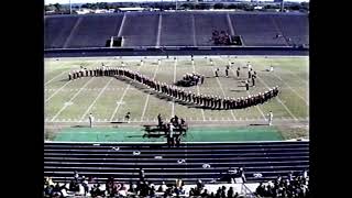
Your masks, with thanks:
<instances>
[{"instance_id":1,"label":"bright green sideline strip between pale field and striped track","mask_svg":"<svg viewBox=\"0 0 352 198\"><path fill-rule=\"evenodd\" d=\"M142 128L66 128L53 141L64 142L165 142L165 138L143 138ZM193 127L183 142L280 141L274 127Z\"/></svg>"}]
</instances>

